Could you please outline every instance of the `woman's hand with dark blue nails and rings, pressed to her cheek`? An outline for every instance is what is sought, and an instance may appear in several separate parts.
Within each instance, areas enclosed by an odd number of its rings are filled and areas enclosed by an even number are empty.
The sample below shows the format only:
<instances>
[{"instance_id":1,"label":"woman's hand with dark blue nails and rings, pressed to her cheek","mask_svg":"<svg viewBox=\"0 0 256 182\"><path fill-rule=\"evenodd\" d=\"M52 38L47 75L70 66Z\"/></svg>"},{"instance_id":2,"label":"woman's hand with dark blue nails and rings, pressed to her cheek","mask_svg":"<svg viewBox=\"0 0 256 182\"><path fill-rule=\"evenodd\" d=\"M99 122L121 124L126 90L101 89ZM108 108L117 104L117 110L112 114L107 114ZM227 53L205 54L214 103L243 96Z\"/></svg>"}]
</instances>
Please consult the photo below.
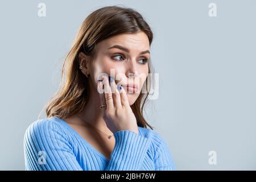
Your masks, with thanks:
<instances>
[{"instance_id":1,"label":"woman's hand with dark blue nails and rings, pressed to her cheek","mask_svg":"<svg viewBox=\"0 0 256 182\"><path fill-rule=\"evenodd\" d=\"M104 90L100 92L100 99L101 105L106 104L106 107L101 111L109 130L112 133L130 130L138 134L137 120L129 105L125 89L121 85L117 86L113 78L109 84L109 77L106 75L102 76L102 81L98 81L98 91L99 89Z\"/></svg>"}]
</instances>

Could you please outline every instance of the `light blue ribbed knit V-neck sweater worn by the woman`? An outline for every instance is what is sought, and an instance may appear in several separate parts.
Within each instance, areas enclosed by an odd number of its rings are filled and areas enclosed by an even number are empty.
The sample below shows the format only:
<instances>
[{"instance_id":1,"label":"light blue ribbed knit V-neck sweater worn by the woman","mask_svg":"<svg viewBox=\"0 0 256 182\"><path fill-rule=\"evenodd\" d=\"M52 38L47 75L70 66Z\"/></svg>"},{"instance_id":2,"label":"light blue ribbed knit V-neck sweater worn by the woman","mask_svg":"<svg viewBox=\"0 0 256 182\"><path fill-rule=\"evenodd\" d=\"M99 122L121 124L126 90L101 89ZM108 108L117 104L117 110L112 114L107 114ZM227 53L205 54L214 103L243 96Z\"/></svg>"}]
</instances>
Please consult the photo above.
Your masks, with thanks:
<instances>
[{"instance_id":1,"label":"light blue ribbed knit V-neck sweater worn by the woman","mask_svg":"<svg viewBox=\"0 0 256 182\"><path fill-rule=\"evenodd\" d=\"M138 127L114 133L110 160L63 119L39 119L24 135L26 170L154 171L175 170L171 152L156 131Z\"/></svg>"}]
</instances>

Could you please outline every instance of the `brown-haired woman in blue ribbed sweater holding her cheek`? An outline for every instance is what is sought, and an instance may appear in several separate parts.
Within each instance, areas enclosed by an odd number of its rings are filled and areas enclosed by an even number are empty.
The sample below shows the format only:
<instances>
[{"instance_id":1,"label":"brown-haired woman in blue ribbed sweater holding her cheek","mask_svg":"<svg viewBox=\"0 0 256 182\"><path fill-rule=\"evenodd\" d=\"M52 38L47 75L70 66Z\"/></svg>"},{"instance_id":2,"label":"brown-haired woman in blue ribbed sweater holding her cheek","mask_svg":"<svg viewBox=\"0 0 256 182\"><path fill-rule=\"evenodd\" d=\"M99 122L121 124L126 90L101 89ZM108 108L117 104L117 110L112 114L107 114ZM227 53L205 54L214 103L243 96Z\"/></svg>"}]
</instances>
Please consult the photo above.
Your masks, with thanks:
<instances>
[{"instance_id":1,"label":"brown-haired woman in blue ribbed sweater holding her cheek","mask_svg":"<svg viewBox=\"0 0 256 182\"><path fill-rule=\"evenodd\" d=\"M133 9L103 7L84 20L47 119L26 130L26 170L175 169L166 142L142 114L152 38Z\"/></svg>"}]
</instances>

